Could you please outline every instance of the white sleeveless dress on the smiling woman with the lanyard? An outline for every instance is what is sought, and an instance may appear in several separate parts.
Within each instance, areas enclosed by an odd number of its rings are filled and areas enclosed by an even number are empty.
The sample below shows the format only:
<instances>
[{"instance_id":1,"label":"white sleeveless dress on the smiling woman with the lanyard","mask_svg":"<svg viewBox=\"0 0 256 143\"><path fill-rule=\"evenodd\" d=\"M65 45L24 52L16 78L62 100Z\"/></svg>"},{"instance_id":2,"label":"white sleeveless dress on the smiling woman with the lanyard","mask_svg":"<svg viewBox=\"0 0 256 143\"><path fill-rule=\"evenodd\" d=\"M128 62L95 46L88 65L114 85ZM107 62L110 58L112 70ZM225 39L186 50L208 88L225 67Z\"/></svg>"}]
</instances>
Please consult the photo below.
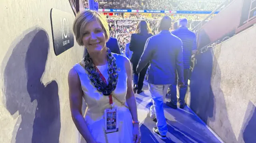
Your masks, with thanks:
<instances>
[{"instance_id":1,"label":"white sleeveless dress on the smiling woman with the lanyard","mask_svg":"<svg viewBox=\"0 0 256 143\"><path fill-rule=\"evenodd\" d=\"M125 57L112 54L116 58L116 65L118 67L118 82L112 94L127 105L125 99L127 92L127 74L124 65ZM81 63L84 65L84 60ZM97 66L97 68L103 74L104 78L108 79L108 65ZM113 107L118 108L119 131L105 133L104 110L110 108L109 98L94 87L88 77L87 71L79 63L74 66L74 69L80 78L84 93L83 98L87 106L84 119L94 140L97 143L132 143L133 123L130 110L122 106L115 98L112 98ZM86 143L83 137L81 140L81 143Z\"/></svg>"}]
</instances>

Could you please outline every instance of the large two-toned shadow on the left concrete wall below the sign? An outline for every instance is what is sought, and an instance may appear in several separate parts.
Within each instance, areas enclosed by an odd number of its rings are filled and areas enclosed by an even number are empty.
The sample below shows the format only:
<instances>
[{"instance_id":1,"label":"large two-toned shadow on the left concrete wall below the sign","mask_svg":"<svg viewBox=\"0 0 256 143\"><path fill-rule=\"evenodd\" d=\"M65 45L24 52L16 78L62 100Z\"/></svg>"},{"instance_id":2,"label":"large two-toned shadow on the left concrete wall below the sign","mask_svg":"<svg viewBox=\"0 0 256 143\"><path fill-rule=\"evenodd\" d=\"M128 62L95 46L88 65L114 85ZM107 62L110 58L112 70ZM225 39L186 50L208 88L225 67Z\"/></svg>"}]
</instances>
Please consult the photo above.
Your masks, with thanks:
<instances>
[{"instance_id":1,"label":"large two-toned shadow on the left concrete wall below the sign","mask_svg":"<svg viewBox=\"0 0 256 143\"><path fill-rule=\"evenodd\" d=\"M26 31L25 31L26 32ZM60 100L55 80L44 85L49 52L48 34L44 29L29 29L9 47L2 67L6 108L18 121L12 143L58 143L60 136Z\"/></svg>"}]
</instances>

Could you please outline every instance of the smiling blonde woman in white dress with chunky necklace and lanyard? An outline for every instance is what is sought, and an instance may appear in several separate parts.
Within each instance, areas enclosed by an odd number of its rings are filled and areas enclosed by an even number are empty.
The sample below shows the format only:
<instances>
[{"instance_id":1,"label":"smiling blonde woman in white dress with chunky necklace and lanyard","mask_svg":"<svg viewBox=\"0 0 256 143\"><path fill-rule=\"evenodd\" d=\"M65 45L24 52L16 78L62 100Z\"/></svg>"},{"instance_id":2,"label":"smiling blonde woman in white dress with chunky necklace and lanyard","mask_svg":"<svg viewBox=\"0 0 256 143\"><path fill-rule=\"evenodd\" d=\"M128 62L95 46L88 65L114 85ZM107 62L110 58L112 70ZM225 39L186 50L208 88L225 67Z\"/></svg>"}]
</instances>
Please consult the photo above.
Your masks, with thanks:
<instances>
[{"instance_id":1,"label":"smiling blonde woman in white dress with chunky necklace and lanyard","mask_svg":"<svg viewBox=\"0 0 256 143\"><path fill-rule=\"evenodd\" d=\"M87 49L68 74L70 110L78 131L87 143L140 143L130 61L106 47L106 18L86 10L76 16L73 31ZM82 98L87 106L84 117Z\"/></svg>"}]
</instances>

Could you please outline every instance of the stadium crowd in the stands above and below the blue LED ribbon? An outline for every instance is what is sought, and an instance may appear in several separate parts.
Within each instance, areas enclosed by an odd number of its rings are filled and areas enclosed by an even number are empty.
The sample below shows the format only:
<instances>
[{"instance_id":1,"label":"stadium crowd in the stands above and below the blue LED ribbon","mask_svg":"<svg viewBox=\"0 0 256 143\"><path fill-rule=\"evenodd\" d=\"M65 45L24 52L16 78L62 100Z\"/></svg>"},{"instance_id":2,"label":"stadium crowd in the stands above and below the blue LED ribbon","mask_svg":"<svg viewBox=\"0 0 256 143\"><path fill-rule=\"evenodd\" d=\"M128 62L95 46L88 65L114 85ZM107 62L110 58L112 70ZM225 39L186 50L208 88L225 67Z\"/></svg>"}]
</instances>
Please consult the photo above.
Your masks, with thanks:
<instances>
[{"instance_id":1,"label":"stadium crowd in the stands above and below the blue LED ribbon","mask_svg":"<svg viewBox=\"0 0 256 143\"><path fill-rule=\"evenodd\" d=\"M82 1L87 8L87 0ZM211 11L224 1L225 0L98 0L97 2L99 2L99 8L105 9ZM110 36L118 39L120 49L123 51L126 44L130 42L130 35L134 33L136 25L140 20L146 20L150 24L152 34L156 34L156 20L159 20L162 16L162 14L146 16L138 13L128 15L114 13L112 16L107 16L110 25ZM188 28L190 29L207 16L208 15L205 14L170 15L172 22L176 22L180 18L188 19ZM211 18L209 18L209 20Z\"/></svg>"}]
</instances>

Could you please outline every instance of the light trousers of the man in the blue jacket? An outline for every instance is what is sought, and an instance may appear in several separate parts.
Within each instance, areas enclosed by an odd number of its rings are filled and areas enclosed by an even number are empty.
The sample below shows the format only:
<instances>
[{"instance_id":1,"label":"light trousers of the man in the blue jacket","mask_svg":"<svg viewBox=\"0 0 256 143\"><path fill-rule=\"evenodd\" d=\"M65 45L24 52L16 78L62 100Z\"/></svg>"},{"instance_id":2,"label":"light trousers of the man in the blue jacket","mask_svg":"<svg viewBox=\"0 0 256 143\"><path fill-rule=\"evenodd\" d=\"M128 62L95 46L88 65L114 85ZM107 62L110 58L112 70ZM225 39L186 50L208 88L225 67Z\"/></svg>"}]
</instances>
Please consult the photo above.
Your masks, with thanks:
<instances>
[{"instance_id":1,"label":"light trousers of the man in the blue jacket","mask_svg":"<svg viewBox=\"0 0 256 143\"><path fill-rule=\"evenodd\" d=\"M167 129L167 123L164 116L164 98L166 96L168 87L170 84L164 84L164 85L155 85L155 84L148 84L149 91L151 93L151 97L153 99L153 105L150 109L150 114L156 115L156 126L158 128L158 131L160 135L165 136L168 129Z\"/></svg>"}]
</instances>

